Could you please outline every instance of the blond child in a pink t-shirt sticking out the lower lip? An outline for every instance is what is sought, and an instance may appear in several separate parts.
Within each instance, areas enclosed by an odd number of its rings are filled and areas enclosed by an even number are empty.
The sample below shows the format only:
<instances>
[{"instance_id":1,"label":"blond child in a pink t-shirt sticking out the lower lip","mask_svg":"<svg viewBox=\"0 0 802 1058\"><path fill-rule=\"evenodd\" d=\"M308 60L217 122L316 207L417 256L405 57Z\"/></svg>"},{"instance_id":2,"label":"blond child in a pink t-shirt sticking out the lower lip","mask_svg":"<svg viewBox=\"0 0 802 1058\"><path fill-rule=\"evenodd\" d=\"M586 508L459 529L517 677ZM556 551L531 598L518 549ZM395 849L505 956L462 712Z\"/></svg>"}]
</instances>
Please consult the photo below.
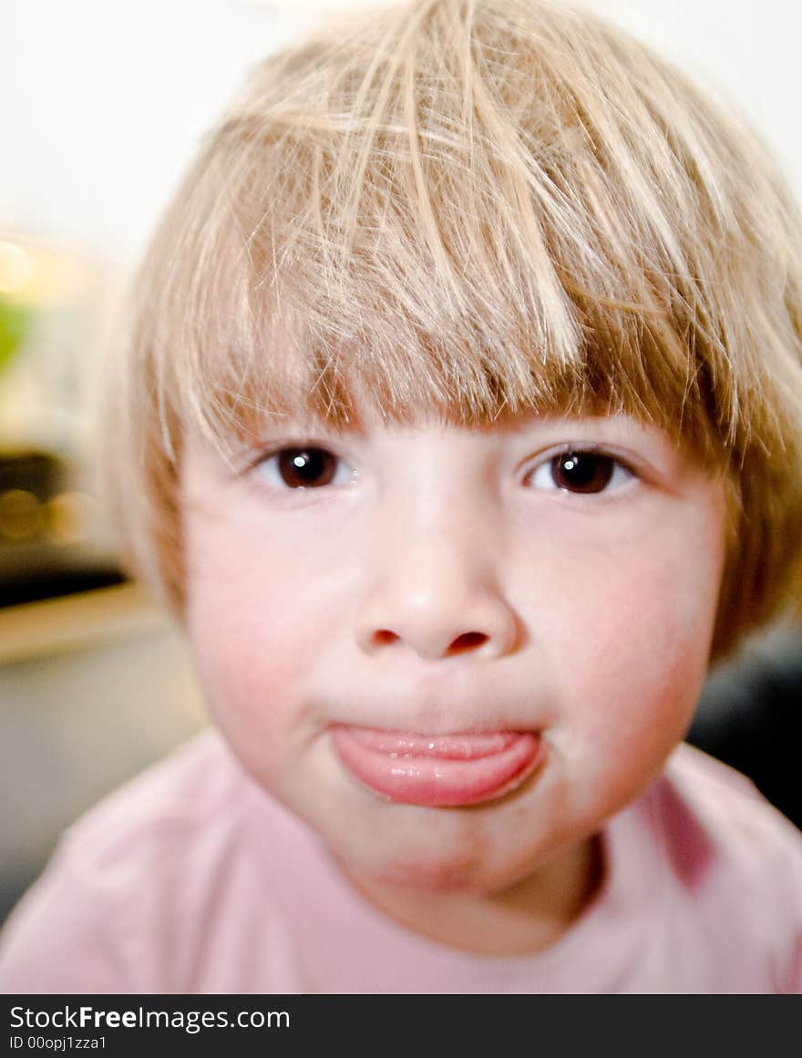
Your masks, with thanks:
<instances>
[{"instance_id":1,"label":"blond child in a pink t-shirt sticking out the lower lip","mask_svg":"<svg viewBox=\"0 0 802 1058\"><path fill-rule=\"evenodd\" d=\"M255 70L110 383L214 725L71 828L4 988L799 991L799 833L678 744L800 598L800 248L587 15L415 0Z\"/></svg>"}]
</instances>

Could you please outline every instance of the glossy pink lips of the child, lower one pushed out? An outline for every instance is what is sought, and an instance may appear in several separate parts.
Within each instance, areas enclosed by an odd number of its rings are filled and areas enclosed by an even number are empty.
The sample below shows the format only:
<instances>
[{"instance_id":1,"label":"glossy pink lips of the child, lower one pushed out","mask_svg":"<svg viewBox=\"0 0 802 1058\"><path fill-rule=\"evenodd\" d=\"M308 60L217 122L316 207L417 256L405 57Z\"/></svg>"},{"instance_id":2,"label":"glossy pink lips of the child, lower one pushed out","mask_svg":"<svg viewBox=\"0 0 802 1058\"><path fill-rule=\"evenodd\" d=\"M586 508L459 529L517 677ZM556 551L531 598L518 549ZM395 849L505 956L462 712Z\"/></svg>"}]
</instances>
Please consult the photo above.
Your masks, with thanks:
<instances>
[{"instance_id":1,"label":"glossy pink lips of the child, lower one pushed out","mask_svg":"<svg viewBox=\"0 0 802 1058\"><path fill-rule=\"evenodd\" d=\"M453 807L508 794L534 770L542 740L531 732L425 735L334 727L334 750L363 785L402 804Z\"/></svg>"}]
</instances>

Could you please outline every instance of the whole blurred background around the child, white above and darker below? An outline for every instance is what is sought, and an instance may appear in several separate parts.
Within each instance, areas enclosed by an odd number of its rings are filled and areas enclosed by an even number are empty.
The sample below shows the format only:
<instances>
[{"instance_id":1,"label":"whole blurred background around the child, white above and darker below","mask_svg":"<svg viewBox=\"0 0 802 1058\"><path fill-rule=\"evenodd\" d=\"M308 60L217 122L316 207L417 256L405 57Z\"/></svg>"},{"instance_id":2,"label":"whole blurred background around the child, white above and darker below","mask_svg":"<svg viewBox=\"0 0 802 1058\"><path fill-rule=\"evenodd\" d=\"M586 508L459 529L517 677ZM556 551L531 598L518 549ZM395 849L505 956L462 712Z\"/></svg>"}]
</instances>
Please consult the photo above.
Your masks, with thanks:
<instances>
[{"instance_id":1,"label":"whole blurred background around the child, white above and darker below","mask_svg":"<svg viewBox=\"0 0 802 1058\"><path fill-rule=\"evenodd\" d=\"M98 507L97 372L202 132L252 62L335 2L3 0L0 920L66 825L204 724L182 635L123 576ZM802 5L584 5L744 110L802 195ZM691 732L800 826L801 658L789 632L751 644Z\"/></svg>"}]
</instances>

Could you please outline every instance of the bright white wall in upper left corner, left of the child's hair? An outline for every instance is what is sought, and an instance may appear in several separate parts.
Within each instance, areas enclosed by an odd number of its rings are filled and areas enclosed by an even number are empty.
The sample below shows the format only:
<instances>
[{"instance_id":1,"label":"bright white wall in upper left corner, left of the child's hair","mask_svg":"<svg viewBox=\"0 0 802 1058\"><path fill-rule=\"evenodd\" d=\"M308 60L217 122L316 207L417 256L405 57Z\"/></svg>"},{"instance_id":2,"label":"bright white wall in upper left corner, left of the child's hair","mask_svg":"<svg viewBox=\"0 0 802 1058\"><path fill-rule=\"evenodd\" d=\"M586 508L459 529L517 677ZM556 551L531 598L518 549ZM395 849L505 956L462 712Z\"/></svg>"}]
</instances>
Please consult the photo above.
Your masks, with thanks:
<instances>
[{"instance_id":1,"label":"bright white wall in upper left corner, left of the child's hair","mask_svg":"<svg viewBox=\"0 0 802 1058\"><path fill-rule=\"evenodd\" d=\"M0 226L125 266L203 129L287 20L224 0L6 6Z\"/></svg>"}]
</instances>

